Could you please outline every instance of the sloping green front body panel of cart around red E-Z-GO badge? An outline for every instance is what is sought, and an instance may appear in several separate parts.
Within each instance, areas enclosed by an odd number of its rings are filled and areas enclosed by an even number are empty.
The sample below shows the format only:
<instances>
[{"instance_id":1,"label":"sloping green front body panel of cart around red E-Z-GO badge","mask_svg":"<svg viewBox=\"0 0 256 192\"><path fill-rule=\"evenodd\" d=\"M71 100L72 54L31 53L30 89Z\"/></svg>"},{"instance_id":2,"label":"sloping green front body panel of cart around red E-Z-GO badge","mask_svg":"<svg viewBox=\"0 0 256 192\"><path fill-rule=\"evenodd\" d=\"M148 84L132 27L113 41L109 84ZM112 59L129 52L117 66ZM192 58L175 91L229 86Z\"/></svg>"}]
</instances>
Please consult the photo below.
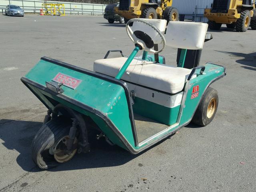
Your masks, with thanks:
<instances>
[{"instance_id":1,"label":"sloping green front body panel of cart around red E-Z-GO badge","mask_svg":"<svg viewBox=\"0 0 256 192\"><path fill-rule=\"evenodd\" d=\"M66 86L61 86L64 90L62 93L63 95L106 114L114 125L118 127L130 145L134 146L128 103L122 86L78 72L76 70L70 70L44 60L40 60L40 62L38 62L38 64L36 64L36 66L34 66L34 68L28 72L26 78L45 86L45 82L51 81L59 72L82 80L82 82L74 90ZM44 94L47 93L45 92ZM49 94L48 96L52 97L54 100L58 100L57 97L54 97L53 95ZM64 101L58 100L58 102L63 103ZM81 111L80 108L76 108L76 110L82 114L88 115L87 112ZM114 133L112 132L111 134ZM107 136L112 138L110 132Z\"/></svg>"}]
</instances>

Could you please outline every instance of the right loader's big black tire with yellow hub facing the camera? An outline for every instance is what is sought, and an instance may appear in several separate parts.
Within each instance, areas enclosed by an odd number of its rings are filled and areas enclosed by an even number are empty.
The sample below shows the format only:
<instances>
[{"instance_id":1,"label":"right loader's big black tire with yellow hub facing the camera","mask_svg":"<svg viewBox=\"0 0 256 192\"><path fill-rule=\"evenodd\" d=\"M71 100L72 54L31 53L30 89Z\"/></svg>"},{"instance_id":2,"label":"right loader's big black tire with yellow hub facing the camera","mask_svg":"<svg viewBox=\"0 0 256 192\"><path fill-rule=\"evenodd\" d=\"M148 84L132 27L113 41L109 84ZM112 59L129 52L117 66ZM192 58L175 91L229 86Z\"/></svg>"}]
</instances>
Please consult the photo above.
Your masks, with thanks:
<instances>
[{"instance_id":1,"label":"right loader's big black tire with yellow hub facing the camera","mask_svg":"<svg viewBox=\"0 0 256 192\"><path fill-rule=\"evenodd\" d=\"M250 21L251 21L250 11L243 10L240 13L240 18L236 21L236 31L246 32L249 28Z\"/></svg>"}]
</instances>

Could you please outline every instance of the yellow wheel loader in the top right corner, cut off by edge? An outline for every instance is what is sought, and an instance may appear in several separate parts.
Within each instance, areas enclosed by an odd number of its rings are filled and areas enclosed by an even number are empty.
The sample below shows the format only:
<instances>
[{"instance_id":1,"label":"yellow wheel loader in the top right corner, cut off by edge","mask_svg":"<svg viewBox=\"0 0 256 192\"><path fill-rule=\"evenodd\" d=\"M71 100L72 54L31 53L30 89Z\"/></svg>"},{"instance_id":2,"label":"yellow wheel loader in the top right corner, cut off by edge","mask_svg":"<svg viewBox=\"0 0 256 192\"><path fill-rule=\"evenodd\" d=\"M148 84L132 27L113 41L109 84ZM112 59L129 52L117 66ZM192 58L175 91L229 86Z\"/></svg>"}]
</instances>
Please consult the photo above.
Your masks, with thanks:
<instances>
[{"instance_id":1,"label":"yellow wheel loader in the top right corner, cut off by edge","mask_svg":"<svg viewBox=\"0 0 256 192\"><path fill-rule=\"evenodd\" d=\"M211 30L219 30L222 24L238 32L246 32L249 26L256 30L255 0L214 0L204 16Z\"/></svg>"}]
</instances>

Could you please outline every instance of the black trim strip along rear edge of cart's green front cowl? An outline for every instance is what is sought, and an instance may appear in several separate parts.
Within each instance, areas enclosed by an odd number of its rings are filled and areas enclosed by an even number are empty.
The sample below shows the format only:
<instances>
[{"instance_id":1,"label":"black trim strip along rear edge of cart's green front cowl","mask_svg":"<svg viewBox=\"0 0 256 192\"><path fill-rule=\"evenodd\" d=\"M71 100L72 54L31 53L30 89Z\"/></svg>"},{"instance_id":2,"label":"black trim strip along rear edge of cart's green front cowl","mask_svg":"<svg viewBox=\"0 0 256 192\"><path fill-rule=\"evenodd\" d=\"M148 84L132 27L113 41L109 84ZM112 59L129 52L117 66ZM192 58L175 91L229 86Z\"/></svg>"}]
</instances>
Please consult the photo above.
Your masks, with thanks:
<instances>
[{"instance_id":1,"label":"black trim strip along rear edge of cart's green front cowl","mask_svg":"<svg viewBox=\"0 0 256 192\"><path fill-rule=\"evenodd\" d=\"M106 76L104 74L99 74L96 72L92 72L90 70L86 70L84 68L80 68L74 65L70 65L68 63L64 63L55 59L51 59L48 57L42 57L41 60L47 61L47 62L51 62L54 64L57 64L59 66L63 66L65 68L69 68L71 70L76 70L78 72L90 75L90 76L94 76L96 78L101 78L103 80L109 81L109 82L113 82L115 84L118 84L120 86L122 86L122 88L124 88L125 94L126 94L126 100L128 103L128 110L129 110L129 118L130 118L130 122L131 122L131 126L132 126L132 134L133 134L133 138L134 138L134 144L135 146L138 146L138 137L137 137L137 132L136 132L136 127L135 127L135 122L134 122L134 115L133 115L133 109L132 109L132 103L131 103L131 99L130 99L130 92L128 89L128 86L125 82L123 82L122 80L118 80L116 78L112 78L109 76Z\"/></svg>"}]
</instances>

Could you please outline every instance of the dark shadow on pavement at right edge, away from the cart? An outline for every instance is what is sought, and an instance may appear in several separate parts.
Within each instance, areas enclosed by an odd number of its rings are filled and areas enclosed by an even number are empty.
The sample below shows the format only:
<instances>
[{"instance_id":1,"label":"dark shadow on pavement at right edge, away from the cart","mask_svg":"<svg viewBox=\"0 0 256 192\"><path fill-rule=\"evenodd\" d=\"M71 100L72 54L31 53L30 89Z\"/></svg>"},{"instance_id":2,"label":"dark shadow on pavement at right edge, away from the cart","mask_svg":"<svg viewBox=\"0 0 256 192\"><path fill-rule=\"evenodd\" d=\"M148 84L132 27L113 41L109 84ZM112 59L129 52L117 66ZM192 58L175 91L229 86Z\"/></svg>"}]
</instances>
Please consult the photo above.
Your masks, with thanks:
<instances>
[{"instance_id":1,"label":"dark shadow on pavement at right edge, away from the cart","mask_svg":"<svg viewBox=\"0 0 256 192\"><path fill-rule=\"evenodd\" d=\"M243 57L243 59L236 60L236 62L239 64L247 65L247 66L241 66L241 68L256 71L256 62L255 62L256 52L246 54L246 53L226 52L226 51L218 51L218 50L215 50L215 51L221 52L224 54L229 54L230 56L234 56L234 57Z\"/></svg>"}]
</instances>

